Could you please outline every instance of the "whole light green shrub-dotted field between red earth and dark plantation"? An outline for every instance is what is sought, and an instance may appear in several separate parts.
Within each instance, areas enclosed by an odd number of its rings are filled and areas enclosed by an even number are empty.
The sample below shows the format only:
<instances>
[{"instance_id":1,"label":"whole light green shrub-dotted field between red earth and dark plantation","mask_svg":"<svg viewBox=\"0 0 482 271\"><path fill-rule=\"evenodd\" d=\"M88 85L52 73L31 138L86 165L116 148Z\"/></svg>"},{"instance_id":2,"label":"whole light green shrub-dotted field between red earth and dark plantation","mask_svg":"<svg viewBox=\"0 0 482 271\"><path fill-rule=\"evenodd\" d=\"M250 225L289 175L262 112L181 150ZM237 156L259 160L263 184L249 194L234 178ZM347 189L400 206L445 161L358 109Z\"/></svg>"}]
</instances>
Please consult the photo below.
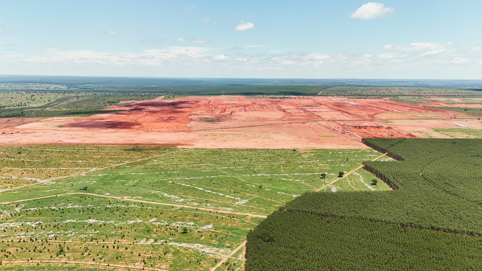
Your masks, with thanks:
<instances>
[{"instance_id":1,"label":"whole light green shrub-dotted field between red earth and dark plantation","mask_svg":"<svg viewBox=\"0 0 482 271\"><path fill-rule=\"evenodd\" d=\"M244 270L243 249L228 256L282 204L332 182L338 191L389 190L363 169L337 180L339 171L378 158L373 149L0 150L3 185L9 186L0 192L5 270L209 270L223 259L216 270ZM70 174L76 176L62 178ZM378 184L370 186L374 178Z\"/></svg>"}]
</instances>

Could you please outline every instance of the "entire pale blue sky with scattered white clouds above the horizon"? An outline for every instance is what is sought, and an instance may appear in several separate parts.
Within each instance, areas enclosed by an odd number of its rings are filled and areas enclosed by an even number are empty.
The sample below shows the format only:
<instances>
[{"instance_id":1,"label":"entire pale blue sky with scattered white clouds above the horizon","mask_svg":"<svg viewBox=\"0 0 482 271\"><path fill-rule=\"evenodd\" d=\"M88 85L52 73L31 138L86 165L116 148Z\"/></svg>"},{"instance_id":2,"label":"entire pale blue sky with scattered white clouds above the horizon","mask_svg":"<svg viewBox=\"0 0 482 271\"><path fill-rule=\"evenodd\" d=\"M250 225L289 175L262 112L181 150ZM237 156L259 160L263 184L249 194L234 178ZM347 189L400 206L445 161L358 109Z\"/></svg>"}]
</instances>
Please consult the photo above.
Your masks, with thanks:
<instances>
[{"instance_id":1,"label":"entire pale blue sky with scattered white clouds above the horizon","mask_svg":"<svg viewBox=\"0 0 482 271\"><path fill-rule=\"evenodd\" d=\"M0 74L482 79L482 1L5 1Z\"/></svg>"}]
</instances>

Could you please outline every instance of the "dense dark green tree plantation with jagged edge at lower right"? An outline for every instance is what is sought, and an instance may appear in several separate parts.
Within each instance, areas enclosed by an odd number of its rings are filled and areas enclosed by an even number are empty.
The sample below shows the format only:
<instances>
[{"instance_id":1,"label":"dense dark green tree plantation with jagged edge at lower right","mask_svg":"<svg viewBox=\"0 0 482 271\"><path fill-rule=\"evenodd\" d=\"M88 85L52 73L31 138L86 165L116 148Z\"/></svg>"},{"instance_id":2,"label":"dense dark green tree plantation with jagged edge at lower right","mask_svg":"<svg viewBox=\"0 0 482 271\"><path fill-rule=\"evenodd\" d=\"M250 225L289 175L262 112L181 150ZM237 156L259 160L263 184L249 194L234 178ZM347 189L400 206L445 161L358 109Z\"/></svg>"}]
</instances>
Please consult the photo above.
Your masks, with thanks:
<instances>
[{"instance_id":1,"label":"dense dark green tree plantation with jagged edge at lower right","mask_svg":"<svg viewBox=\"0 0 482 271\"><path fill-rule=\"evenodd\" d=\"M395 189L310 192L248 234L246 270L482 269L482 140L369 139Z\"/></svg>"}]
</instances>

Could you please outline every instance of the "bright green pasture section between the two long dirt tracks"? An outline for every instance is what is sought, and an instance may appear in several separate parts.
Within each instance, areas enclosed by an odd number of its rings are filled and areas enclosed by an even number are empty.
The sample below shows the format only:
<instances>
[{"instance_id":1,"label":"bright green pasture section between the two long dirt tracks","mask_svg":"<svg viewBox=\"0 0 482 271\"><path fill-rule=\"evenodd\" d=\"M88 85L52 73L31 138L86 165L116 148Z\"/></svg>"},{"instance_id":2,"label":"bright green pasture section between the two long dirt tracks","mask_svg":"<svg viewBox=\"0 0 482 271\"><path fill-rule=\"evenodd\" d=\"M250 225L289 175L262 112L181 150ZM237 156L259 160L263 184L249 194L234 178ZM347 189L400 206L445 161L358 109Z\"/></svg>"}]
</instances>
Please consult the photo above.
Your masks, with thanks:
<instances>
[{"instance_id":1,"label":"bright green pasture section between the two long dirt tracks","mask_svg":"<svg viewBox=\"0 0 482 271\"><path fill-rule=\"evenodd\" d=\"M336 179L339 171L348 172L377 156L370 149L185 149L6 191L2 198L36 198L87 187L85 191L100 195L268 215L281 203ZM327 173L325 179L321 173Z\"/></svg>"}]
</instances>

